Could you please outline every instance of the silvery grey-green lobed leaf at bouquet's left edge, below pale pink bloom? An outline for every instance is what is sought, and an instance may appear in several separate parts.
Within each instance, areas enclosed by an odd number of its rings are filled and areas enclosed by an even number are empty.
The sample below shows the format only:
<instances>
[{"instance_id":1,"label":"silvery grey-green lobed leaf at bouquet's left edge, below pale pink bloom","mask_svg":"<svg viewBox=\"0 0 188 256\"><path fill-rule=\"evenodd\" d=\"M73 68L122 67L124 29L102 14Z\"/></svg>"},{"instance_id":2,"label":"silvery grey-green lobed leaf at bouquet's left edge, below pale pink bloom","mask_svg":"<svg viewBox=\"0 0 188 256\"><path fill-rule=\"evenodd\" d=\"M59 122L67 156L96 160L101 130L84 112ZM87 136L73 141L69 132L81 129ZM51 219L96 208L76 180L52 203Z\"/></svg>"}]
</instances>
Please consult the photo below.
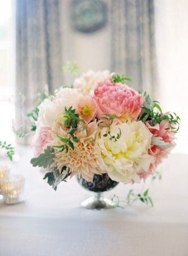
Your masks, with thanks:
<instances>
[{"instance_id":1,"label":"silvery grey-green lobed leaf at bouquet's left edge, below pale pink bloom","mask_svg":"<svg viewBox=\"0 0 188 256\"><path fill-rule=\"evenodd\" d=\"M48 168L53 163L54 149L50 146L44 149L44 153L41 153L38 157L31 159L33 167L44 167Z\"/></svg>"}]
</instances>

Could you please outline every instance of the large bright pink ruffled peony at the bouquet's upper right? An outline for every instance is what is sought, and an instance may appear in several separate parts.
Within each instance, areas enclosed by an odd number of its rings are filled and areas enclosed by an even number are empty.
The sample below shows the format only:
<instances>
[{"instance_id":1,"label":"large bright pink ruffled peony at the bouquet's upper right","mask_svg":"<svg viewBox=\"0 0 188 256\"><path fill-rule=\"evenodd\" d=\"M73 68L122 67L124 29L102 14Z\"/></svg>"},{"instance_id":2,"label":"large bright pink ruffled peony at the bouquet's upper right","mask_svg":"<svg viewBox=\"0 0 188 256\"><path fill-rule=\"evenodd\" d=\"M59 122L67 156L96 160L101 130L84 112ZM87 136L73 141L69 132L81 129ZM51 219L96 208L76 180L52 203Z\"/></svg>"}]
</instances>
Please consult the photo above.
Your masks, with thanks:
<instances>
[{"instance_id":1,"label":"large bright pink ruffled peony at the bouquet's upper right","mask_svg":"<svg viewBox=\"0 0 188 256\"><path fill-rule=\"evenodd\" d=\"M93 99L97 102L97 117L103 114L115 114L123 120L137 120L142 106L141 95L132 88L113 83L110 80L98 83L95 87Z\"/></svg>"}]
</instances>

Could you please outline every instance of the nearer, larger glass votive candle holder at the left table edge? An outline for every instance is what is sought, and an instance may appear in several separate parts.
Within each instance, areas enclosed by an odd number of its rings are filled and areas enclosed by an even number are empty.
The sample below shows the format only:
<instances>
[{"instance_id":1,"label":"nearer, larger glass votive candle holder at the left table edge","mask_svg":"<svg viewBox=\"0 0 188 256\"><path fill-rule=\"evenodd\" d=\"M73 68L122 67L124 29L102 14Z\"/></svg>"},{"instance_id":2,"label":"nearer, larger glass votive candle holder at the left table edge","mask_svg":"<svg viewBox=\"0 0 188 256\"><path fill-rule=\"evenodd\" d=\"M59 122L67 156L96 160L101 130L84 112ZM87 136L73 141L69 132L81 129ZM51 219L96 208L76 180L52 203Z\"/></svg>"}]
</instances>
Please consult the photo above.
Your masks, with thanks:
<instances>
[{"instance_id":1,"label":"nearer, larger glass votive candle holder at the left table edge","mask_svg":"<svg viewBox=\"0 0 188 256\"><path fill-rule=\"evenodd\" d=\"M5 204L23 202L25 179L22 175L11 175L8 179L0 180L1 192Z\"/></svg>"}]
</instances>

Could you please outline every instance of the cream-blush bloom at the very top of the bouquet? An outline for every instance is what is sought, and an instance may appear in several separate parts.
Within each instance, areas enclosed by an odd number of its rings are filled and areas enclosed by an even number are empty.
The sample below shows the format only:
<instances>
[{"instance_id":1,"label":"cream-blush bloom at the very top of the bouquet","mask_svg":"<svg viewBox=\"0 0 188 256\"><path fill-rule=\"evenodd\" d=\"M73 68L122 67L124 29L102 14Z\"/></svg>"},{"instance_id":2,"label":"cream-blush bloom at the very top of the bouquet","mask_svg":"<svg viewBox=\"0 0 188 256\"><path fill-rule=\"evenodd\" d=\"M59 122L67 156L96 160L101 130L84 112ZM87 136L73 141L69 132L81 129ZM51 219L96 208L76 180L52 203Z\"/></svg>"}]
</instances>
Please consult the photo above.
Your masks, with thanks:
<instances>
[{"instance_id":1,"label":"cream-blush bloom at the very top of the bouquet","mask_svg":"<svg viewBox=\"0 0 188 256\"><path fill-rule=\"evenodd\" d=\"M106 79L110 79L112 77L112 73L108 70L94 72L90 70L80 77L76 78L73 82L73 86L78 89L79 92L90 95L95 86L97 86L98 82L103 82Z\"/></svg>"}]
</instances>

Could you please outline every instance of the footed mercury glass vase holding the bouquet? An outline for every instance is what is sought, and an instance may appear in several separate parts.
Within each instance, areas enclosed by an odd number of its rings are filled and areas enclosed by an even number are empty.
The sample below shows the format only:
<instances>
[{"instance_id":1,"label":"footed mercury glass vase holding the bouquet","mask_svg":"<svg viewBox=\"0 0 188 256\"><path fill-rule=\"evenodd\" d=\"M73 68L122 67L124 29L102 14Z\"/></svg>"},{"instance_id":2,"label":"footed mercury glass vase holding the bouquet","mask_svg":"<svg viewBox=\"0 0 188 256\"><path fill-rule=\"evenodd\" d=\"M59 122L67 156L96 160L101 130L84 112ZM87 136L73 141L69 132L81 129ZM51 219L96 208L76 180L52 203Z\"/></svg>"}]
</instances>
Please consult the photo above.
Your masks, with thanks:
<instances>
[{"instance_id":1,"label":"footed mercury glass vase holding the bouquet","mask_svg":"<svg viewBox=\"0 0 188 256\"><path fill-rule=\"evenodd\" d=\"M88 191L95 192L94 196L86 199L81 203L81 206L87 209L110 209L114 208L115 204L112 200L103 198L102 192L113 189L117 186L117 181L112 181L108 174L97 175L93 177L93 182L88 182L82 177L76 176L78 183Z\"/></svg>"}]
</instances>

